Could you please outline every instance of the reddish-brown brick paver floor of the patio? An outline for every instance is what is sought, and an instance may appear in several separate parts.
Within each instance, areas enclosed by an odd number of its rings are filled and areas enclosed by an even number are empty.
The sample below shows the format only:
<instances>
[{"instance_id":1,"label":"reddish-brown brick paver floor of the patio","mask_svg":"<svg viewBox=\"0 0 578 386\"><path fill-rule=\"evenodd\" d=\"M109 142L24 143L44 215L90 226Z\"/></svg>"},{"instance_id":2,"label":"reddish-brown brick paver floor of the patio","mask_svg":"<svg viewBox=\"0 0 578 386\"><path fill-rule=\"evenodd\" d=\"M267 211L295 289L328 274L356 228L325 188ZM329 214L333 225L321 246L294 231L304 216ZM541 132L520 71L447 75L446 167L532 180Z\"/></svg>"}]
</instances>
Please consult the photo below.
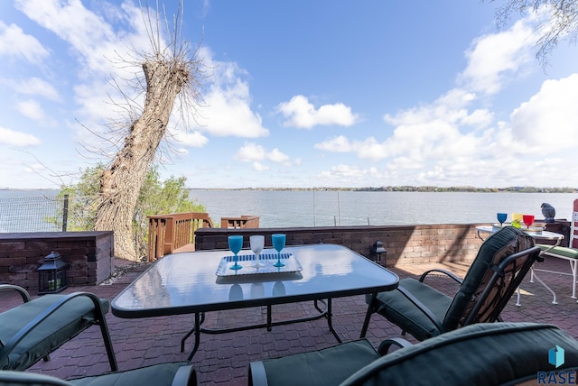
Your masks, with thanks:
<instances>
[{"instance_id":1,"label":"reddish-brown brick paver floor of the patio","mask_svg":"<svg viewBox=\"0 0 578 386\"><path fill-rule=\"evenodd\" d=\"M118 263L123 263L119 261ZM126 263L126 262L125 262ZM416 275L429 268L445 268L462 276L467 270L463 264L428 264L389 268L400 278ZM99 297L113 299L115 295L138 276L145 267L136 267L112 284L92 287L74 287L65 292L89 291ZM547 258L540 268L566 271L568 263ZM538 282L530 283L529 275L522 288L521 306L510 300L502 313L506 321L533 321L553 323L567 333L578 337L578 303L571 299L570 276L540 273L540 277L555 290L558 304L552 304L552 296ZM435 276L428 283L450 293L455 283L443 276ZM19 297L0 294L0 309L17 304ZM298 317L312 309L312 303L297 303L274 307L274 318ZM367 305L363 297L333 300L333 324L341 339L349 341L359 338ZM262 322L265 310L247 308L207 314L206 326L233 326L241 323ZM107 323L112 335L117 361L121 370L132 369L154 363L186 361L192 348L192 339L187 341L185 353L180 352L181 338L192 325L192 315L178 317L152 317L144 319L121 319L107 314ZM205 326L204 325L204 326ZM401 336L398 327L383 317L374 315L368 329L369 341L377 346L387 337ZM411 336L406 336L412 340ZM202 385L246 385L248 363L261 358L302 353L336 345L325 319L294 325L275 326L272 331L254 329L222 335L201 335L200 348L192 358ZM61 378L94 375L109 371L107 355L102 344L98 326L80 334L51 354L50 362L36 363L30 372L42 372Z\"/></svg>"}]
</instances>

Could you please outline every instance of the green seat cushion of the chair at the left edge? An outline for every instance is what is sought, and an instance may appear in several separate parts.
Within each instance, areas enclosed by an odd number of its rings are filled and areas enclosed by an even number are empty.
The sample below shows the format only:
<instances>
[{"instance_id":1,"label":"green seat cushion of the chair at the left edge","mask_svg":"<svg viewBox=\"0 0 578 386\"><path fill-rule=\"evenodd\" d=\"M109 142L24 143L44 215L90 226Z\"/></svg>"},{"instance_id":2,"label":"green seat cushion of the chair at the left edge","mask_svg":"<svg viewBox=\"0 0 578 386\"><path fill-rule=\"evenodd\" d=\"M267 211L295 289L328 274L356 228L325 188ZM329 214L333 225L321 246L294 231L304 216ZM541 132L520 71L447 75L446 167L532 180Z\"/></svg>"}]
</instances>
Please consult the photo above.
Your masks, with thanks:
<instances>
[{"instance_id":1,"label":"green seat cushion of the chair at the left edge","mask_svg":"<svg viewBox=\"0 0 578 386\"><path fill-rule=\"evenodd\" d=\"M34 317L58 302L66 295L50 294L33 299L0 314L0 339L7 344ZM110 304L100 299L103 313ZM72 337L92 325L95 319L94 305L87 297L70 299L58 312L47 317L40 326L26 335L8 355L0 358L1 370L25 370L38 362L44 355L50 354Z\"/></svg>"}]
</instances>

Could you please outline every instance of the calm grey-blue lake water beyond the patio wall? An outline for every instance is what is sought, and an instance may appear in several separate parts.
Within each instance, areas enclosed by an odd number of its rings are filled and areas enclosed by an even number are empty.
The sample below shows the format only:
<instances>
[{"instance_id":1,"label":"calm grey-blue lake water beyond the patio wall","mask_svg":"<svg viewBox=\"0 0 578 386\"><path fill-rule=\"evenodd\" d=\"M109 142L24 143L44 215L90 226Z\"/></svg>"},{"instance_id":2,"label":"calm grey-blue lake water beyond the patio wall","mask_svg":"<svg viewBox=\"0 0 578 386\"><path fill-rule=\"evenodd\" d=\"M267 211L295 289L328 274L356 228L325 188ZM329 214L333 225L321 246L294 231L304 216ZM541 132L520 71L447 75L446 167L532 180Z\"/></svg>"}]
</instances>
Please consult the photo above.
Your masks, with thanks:
<instances>
[{"instance_id":1,"label":"calm grey-blue lake water beyond the patio wall","mask_svg":"<svg viewBox=\"0 0 578 386\"><path fill-rule=\"evenodd\" d=\"M0 232L35 232L26 229L31 218L7 215L3 198L50 198L57 190L0 190ZM252 215L260 217L261 227L332 225L406 225L495 223L497 212L518 212L543 218L540 205L556 208L556 218L572 216L569 193L425 193L285 190L191 189L190 197L199 201L215 222L220 217ZM8 200L9 201L9 200ZM4 206L4 207L3 207ZM37 216L51 216L41 210ZM52 215L53 216L53 215ZM56 230L58 229L49 229Z\"/></svg>"}]
</instances>

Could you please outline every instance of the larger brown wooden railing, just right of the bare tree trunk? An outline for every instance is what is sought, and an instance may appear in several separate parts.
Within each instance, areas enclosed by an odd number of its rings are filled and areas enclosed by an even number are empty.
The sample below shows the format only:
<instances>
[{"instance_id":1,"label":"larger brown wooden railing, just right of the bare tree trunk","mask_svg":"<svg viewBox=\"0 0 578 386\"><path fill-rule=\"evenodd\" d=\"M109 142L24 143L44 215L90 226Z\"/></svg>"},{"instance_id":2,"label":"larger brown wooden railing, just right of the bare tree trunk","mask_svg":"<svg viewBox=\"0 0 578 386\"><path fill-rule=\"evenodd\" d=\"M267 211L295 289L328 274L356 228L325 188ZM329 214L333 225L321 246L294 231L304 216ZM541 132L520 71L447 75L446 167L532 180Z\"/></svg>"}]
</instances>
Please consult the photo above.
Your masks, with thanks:
<instances>
[{"instance_id":1,"label":"larger brown wooden railing, just right of the bare tree trunk","mask_svg":"<svg viewBox=\"0 0 578 386\"><path fill-rule=\"evenodd\" d=\"M194 244L195 231L212 228L209 214L189 212L148 216L147 260L154 262L187 244Z\"/></svg>"}]
</instances>

